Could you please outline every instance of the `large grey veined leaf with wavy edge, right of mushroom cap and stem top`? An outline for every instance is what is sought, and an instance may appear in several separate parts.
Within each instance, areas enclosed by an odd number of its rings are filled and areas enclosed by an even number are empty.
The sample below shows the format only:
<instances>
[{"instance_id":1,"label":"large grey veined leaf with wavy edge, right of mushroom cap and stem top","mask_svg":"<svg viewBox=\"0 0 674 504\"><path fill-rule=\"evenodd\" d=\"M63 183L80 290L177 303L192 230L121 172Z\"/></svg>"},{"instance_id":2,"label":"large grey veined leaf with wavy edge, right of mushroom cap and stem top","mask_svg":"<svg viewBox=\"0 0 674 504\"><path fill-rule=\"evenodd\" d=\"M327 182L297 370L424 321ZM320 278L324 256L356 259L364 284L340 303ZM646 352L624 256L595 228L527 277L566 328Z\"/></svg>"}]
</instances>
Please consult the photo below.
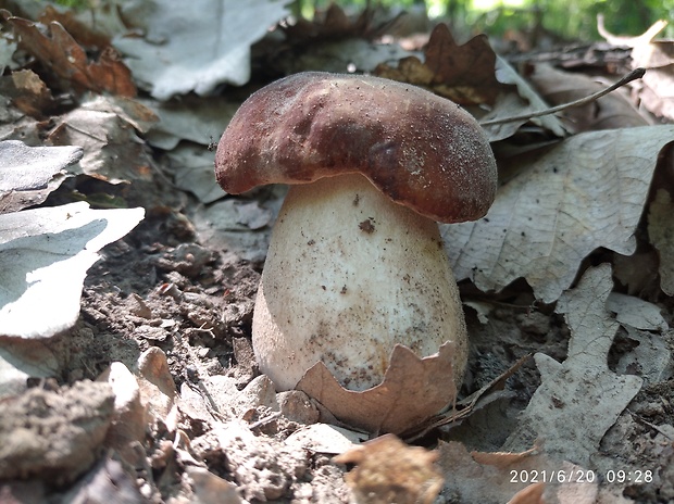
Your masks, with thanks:
<instances>
[{"instance_id":1,"label":"large grey veined leaf with wavy edge, right of mushroom cap and stem top","mask_svg":"<svg viewBox=\"0 0 674 504\"><path fill-rule=\"evenodd\" d=\"M647 126L552 148L499 189L483 219L441 225L457 279L498 291L523 277L550 303L592 250L632 254L658 154L673 138L674 126Z\"/></svg>"}]
</instances>

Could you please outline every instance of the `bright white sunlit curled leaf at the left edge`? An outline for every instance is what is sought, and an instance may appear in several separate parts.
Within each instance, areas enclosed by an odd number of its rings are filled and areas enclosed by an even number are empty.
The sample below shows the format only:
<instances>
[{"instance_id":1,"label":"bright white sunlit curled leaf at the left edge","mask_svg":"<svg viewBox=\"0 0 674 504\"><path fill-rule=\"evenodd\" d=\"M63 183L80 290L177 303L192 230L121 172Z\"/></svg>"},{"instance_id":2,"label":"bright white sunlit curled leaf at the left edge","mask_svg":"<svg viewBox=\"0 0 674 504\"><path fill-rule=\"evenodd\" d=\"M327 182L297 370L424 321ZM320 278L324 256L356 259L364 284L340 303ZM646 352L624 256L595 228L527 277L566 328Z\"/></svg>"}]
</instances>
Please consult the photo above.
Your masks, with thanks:
<instances>
[{"instance_id":1,"label":"bright white sunlit curled leaf at the left edge","mask_svg":"<svg viewBox=\"0 0 674 504\"><path fill-rule=\"evenodd\" d=\"M0 215L0 335L48 338L70 328L98 251L142 216L84 202Z\"/></svg>"}]
</instances>

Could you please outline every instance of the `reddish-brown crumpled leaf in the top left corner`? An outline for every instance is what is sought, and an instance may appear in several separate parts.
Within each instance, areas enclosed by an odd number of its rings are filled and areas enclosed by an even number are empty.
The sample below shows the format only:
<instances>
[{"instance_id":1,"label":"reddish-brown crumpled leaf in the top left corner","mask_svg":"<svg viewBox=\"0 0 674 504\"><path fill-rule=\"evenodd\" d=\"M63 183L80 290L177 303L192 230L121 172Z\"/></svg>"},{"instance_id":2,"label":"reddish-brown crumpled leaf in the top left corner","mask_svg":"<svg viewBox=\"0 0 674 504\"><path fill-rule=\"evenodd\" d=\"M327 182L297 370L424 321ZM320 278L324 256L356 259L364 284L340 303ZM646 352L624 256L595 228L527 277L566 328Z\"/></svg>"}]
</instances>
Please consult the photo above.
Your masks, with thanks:
<instances>
[{"instance_id":1,"label":"reddish-brown crumpled leaf in the top left corner","mask_svg":"<svg viewBox=\"0 0 674 504\"><path fill-rule=\"evenodd\" d=\"M85 50L65 30L51 22L45 26L22 17L8 20L21 37L21 46L77 91L92 90L122 97L136 96L130 71L112 47L104 48L98 62L89 62Z\"/></svg>"}]
</instances>

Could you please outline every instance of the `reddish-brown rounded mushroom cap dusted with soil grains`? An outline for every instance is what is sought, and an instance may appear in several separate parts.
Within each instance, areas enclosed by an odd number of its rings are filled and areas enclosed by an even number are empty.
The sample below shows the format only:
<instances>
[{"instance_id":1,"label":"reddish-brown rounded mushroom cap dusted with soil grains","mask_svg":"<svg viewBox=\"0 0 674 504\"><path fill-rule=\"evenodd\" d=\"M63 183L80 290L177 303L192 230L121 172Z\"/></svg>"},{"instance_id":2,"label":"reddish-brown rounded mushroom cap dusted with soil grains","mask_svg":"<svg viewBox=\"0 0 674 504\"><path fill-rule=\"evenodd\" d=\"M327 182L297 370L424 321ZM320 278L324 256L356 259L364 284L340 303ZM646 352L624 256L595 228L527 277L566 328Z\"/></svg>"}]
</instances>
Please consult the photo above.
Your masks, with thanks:
<instances>
[{"instance_id":1,"label":"reddish-brown rounded mushroom cap dusted with soil grains","mask_svg":"<svg viewBox=\"0 0 674 504\"><path fill-rule=\"evenodd\" d=\"M277 80L244 102L215 154L229 193L348 173L444 223L482 217L496 196L496 161L477 122L447 99L378 77Z\"/></svg>"}]
</instances>

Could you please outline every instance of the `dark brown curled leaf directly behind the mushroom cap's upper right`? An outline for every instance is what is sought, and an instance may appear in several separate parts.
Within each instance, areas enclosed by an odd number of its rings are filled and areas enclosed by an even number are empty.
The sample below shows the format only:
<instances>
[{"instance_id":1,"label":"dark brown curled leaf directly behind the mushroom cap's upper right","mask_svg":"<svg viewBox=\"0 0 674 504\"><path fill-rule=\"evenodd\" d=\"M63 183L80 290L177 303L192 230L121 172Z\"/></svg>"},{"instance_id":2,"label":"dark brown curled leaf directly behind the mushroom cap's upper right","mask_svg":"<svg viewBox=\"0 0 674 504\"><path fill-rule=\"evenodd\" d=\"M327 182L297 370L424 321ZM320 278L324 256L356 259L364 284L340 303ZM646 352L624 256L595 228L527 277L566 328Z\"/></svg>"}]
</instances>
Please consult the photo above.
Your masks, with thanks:
<instances>
[{"instance_id":1,"label":"dark brown curled leaf directly behind the mushroom cap's upper right","mask_svg":"<svg viewBox=\"0 0 674 504\"><path fill-rule=\"evenodd\" d=\"M447 25L430 34L426 61L416 56L400 60L398 68L380 64L375 75L430 88L462 105L492 104L502 85L496 79L496 53L485 35L457 45Z\"/></svg>"}]
</instances>

